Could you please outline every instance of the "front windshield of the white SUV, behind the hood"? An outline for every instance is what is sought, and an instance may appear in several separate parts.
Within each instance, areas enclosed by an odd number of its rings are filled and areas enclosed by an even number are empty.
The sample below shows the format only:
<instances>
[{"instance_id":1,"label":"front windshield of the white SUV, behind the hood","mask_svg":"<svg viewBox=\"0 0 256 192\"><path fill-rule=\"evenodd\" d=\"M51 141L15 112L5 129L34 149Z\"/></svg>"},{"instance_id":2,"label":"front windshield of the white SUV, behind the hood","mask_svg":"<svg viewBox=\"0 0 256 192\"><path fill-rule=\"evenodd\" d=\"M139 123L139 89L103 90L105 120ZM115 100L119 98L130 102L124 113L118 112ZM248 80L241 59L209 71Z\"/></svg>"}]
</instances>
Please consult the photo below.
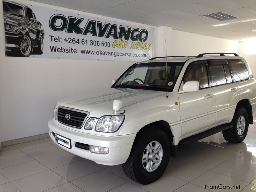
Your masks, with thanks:
<instances>
[{"instance_id":1,"label":"front windshield of the white SUV, behind the hood","mask_svg":"<svg viewBox=\"0 0 256 192\"><path fill-rule=\"evenodd\" d=\"M119 77L112 88L148 89L172 92L184 62L150 62L134 64ZM166 81L167 78L167 81Z\"/></svg>"}]
</instances>

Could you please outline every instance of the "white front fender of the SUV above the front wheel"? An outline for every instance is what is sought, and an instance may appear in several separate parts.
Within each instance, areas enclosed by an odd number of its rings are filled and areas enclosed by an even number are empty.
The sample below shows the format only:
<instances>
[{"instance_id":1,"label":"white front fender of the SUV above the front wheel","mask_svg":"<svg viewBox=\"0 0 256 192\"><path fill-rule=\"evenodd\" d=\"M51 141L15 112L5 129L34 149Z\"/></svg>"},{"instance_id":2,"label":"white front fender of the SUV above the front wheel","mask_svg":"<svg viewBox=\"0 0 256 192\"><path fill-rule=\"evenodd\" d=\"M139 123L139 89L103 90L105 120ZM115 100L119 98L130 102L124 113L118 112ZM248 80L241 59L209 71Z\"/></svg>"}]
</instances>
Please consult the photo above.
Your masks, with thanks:
<instances>
[{"instance_id":1,"label":"white front fender of the SUV above the front wheel","mask_svg":"<svg viewBox=\"0 0 256 192\"><path fill-rule=\"evenodd\" d=\"M179 101L178 96L168 96L168 99L161 95L122 108L125 110L125 120L115 136L137 133L142 127L156 121L166 121L168 124L180 121L180 107L175 105Z\"/></svg>"}]
</instances>

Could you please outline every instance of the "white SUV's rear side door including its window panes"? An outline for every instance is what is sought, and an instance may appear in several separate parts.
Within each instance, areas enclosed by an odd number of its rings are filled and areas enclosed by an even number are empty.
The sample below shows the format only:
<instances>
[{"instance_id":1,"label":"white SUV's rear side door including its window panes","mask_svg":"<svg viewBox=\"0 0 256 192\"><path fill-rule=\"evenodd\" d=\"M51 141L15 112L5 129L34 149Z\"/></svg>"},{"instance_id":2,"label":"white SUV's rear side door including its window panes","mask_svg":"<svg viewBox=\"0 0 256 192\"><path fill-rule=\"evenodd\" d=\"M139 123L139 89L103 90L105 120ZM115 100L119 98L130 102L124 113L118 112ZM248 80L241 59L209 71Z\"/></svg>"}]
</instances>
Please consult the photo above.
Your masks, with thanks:
<instances>
[{"instance_id":1,"label":"white SUV's rear side door including its window panes","mask_svg":"<svg viewBox=\"0 0 256 192\"><path fill-rule=\"evenodd\" d=\"M216 98L216 124L229 122L240 98L227 60L209 60L211 83Z\"/></svg>"}]
</instances>

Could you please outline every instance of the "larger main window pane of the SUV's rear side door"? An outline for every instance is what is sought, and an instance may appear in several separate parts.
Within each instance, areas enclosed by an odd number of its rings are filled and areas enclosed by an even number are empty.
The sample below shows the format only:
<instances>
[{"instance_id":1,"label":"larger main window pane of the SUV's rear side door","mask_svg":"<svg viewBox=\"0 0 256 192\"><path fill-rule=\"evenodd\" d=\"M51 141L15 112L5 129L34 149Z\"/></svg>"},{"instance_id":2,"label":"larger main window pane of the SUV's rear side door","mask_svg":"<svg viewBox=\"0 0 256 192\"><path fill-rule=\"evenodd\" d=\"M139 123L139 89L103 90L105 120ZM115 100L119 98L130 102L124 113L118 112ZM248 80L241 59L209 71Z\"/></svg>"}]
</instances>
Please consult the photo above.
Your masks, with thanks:
<instances>
[{"instance_id":1,"label":"larger main window pane of the SUV's rear side door","mask_svg":"<svg viewBox=\"0 0 256 192\"><path fill-rule=\"evenodd\" d=\"M226 60L209 60L212 86L227 84L224 63L227 64L228 62Z\"/></svg>"}]
</instances>

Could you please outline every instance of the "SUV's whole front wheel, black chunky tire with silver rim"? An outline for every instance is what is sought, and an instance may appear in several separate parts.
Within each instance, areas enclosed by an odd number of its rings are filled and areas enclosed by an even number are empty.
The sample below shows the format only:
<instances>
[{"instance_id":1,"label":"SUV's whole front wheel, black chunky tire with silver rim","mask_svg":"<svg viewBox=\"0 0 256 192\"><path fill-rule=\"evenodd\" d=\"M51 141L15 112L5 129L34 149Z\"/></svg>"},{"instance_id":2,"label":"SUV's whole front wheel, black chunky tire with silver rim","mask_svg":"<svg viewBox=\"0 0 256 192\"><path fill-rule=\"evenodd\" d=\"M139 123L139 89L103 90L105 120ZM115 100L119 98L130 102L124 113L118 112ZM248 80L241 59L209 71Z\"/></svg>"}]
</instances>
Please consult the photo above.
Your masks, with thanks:
<instances>
[{"instance_id":1,"label":"SUV's whole front wheel, black chunky tire with silver rim","mask_svg":"<svg viewBox=\"0 0 256 192\"><path fill-rule=\"evenodd\" d=\"M150 184L164 174L169 157L170 143L165 132L148 126L137 134L122 168L126 176L135 182Z\"/></svg>"}]
</instances>

